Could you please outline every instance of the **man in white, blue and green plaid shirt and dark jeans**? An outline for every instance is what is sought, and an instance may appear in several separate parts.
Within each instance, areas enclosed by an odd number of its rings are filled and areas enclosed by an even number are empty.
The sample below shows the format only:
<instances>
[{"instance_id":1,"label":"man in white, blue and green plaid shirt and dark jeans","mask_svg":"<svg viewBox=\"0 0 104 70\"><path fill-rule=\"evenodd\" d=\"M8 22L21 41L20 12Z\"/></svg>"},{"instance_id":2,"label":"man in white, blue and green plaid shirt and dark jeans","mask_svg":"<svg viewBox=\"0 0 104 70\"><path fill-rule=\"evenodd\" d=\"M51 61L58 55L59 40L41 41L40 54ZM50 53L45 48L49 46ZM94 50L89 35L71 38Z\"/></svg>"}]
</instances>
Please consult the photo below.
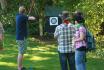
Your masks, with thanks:
<instances>
[{"instance_id":1,"label":"man in white, blue and green plaid shirt and dark jeans","mask_svg":"<svg viewBox=\"0 0 104 70\"><path fill-rule=\"evenodd\" d=\"M54 32L54 37L58 41L61 70L68 70L68 68L70 68L70 70L75 70L75 53L73 41L75 28L74 25L68 20L68 11L63 11L61 17L63 23L58 25Z\"/></svg>"}]
</instances>

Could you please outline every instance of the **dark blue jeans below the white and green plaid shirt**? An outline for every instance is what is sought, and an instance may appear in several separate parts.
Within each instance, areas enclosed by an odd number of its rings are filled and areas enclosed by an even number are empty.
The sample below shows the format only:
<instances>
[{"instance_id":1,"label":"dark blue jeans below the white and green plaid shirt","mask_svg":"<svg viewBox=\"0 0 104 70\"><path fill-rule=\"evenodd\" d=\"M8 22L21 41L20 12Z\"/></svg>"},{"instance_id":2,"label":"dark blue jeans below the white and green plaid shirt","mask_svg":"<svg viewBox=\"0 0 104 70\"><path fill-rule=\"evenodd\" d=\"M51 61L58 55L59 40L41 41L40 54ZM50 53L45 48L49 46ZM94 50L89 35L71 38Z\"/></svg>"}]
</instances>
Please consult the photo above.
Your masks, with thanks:
<instances>
[{"instance_id":1,"label":"dark blue jeans below the white and green plaid shirt","mask_svg":"<svg viewBox=\"0 0 104 70\"><path fill-rule=\"evenodd\" d=\"M75 53L59 53L61 70L75 70ZM68 62L68 63L67 63Z\"/></svg>"}]
</instances>

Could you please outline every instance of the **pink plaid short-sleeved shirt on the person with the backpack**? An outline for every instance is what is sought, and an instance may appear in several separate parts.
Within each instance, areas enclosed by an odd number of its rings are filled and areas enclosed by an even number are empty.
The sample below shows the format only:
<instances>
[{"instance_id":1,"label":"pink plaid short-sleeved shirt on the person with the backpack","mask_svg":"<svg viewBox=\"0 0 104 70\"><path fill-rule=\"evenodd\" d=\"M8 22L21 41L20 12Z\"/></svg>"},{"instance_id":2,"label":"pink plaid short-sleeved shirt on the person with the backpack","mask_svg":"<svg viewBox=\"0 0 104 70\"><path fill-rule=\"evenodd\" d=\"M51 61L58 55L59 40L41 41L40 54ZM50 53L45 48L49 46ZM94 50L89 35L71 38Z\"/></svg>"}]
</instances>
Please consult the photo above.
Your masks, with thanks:
<instances>
[{"instance_id":1,"label":"pink plaid short-sleeved shirt on the person with the backpack","mask_svg":"<svg viewBox=\"0 0 104 70\"><path fill-rule=\"evenodd\" d=\"M86 35L86 29L84 26L80 26L79 28L76 28L76 33L75 33L75 38L78 39L80 37L80 32L83 32ZM80 48L80 47L86 47L86 42L85 40L77 41L75 42L75 47Z\"/></svg>"}]
</instances>

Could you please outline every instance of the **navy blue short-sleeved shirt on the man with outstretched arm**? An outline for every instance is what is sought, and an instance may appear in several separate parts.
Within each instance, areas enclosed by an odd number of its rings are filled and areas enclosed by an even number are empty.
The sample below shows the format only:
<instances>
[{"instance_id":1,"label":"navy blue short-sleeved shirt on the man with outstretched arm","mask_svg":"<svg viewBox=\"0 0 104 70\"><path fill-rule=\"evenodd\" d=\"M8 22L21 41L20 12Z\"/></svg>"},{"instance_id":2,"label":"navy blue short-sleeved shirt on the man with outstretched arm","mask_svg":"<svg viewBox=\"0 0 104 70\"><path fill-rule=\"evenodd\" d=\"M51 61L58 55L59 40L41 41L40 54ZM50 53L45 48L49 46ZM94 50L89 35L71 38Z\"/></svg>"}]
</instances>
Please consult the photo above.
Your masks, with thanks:
<instances>
[{"instance_id":1,"label":"navy blue short-sleeved shirt on the man with outstretched arm","mask_svg":"<svg viewBox=\"0 0 104 70\"><path fill-rule=\"evenodd\" d=\"M27 38L27 21L28 17L26 15L16 15L16 40L24 40Z\"/></svg>"}]
</instances>

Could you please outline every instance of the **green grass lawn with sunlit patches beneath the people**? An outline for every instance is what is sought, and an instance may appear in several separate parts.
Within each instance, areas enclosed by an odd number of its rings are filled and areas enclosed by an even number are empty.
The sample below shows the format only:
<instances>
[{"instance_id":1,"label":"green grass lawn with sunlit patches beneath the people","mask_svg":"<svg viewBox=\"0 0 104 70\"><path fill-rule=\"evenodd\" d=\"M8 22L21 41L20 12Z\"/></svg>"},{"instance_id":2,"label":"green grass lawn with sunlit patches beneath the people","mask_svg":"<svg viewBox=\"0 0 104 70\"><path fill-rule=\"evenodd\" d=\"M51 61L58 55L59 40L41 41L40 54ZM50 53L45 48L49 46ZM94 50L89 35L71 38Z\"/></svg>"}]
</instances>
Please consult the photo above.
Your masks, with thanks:
<instances>
[{"instance_id":1,"label":"green grass lawn with sunlit patches beneath the people","mask_svg":"<svg viewBox=\"0 0 104 70\"><path fill-rule=\"evenodd\" d=\"M28 39L28 50L24 66L34 70L61 70L54 43L41 42L35 38ZM15 35L5 35L4 50L0 51L0 70L17 70L17 44ZM29 70L29 69L28 69ZM87 70L104 70L104 59L93 54L87 56Z\"/></svg>"}]
</instances>

